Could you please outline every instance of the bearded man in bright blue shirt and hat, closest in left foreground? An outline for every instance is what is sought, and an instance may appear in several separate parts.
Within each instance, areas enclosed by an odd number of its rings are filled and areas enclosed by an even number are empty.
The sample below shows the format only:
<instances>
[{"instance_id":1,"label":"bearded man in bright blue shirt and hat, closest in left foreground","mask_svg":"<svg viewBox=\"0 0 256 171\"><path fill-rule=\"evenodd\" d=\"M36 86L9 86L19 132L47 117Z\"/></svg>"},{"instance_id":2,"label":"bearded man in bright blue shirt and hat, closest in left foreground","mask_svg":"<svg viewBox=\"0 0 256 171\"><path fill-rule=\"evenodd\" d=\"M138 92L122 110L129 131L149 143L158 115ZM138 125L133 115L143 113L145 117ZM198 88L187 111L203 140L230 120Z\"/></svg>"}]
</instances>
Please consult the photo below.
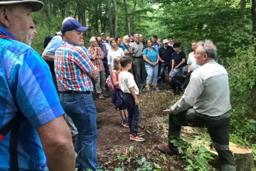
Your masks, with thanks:
<instances>
[{"instance_id":1,"label":"bearded man in bright blue shirt and hat, closest in left foreground","mask_svg":"<svg viewBox=\"0 0 256 171\"><path fill-rule=\"evenodd\" d=\"M0 1L0 131L24 115L20 125L0 135L3 171L45 170L46 161L49 170L74 170L71 133L52 76L28 46L30 27L35 27L30 13L43 6L36 0Z\"/></svg>"}]
</instances>

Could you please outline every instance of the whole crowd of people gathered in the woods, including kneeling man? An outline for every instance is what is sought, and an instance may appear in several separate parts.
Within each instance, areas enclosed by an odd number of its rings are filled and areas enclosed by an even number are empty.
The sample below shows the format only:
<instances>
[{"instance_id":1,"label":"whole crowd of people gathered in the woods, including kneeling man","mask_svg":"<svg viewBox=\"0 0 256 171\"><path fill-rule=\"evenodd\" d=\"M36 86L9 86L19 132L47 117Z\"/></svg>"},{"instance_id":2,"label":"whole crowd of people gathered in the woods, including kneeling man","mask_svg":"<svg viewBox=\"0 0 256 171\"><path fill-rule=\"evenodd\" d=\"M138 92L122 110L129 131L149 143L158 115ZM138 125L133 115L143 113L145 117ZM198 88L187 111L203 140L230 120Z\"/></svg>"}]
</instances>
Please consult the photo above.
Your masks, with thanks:
<instances>
[{"instance_id":1,"label":"whole crowd of people gathered in the woods, including kneeling man","mask_svg":"<svg viewBox=\"0 0 256 171\"><path fill-rule=\"evenodd\" d=\"M168 143L158 150L178 155L172 140L182 126L207 127L222 170L236 170L228 139L228 74L215 62L212 41L192 42L187 61L172 37L162 45L155 35L147 41L127 35L121 41L101 33L90 38L87 49L83 32L88 28L68 17L40 56L30 47L36 36L30 13L43 6L37 0L0 1L0 170L45 170L46 164L49 170L99 169L93 82L104 99L106 78L112 78L112 102L130 129L127 137L144 141L139 88L146 83L148 90L153 83L158 91L166 67L170 82L179 73L190 76L183 96L168 110Z\"/></svg>"}]
</instances>

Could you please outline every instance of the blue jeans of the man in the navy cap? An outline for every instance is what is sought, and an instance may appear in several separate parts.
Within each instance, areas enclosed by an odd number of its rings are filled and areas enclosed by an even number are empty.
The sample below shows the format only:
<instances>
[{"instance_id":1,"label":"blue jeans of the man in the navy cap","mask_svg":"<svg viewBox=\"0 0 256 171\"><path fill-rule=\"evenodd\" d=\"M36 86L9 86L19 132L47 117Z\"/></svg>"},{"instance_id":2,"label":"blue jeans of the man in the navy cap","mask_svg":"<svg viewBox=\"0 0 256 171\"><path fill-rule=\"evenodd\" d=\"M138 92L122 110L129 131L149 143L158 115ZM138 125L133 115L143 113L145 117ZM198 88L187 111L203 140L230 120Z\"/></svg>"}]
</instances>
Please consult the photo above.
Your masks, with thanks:
<instances>
[{"instance_id":1,"label":"blue jeans of the man in the navy cap","mask_svg":"<svg viewBox=\"0 0 256 171\"><path fill-rule=\"evenodd\" d=\"M59 99L65 113L71 117L78 129L75 139L75 152L78 153L75 167L79 170L99 169L96 155L96 140L98 138L96 107L92 101L92 95L60 93Z\"/></svg>"}]
</instances>

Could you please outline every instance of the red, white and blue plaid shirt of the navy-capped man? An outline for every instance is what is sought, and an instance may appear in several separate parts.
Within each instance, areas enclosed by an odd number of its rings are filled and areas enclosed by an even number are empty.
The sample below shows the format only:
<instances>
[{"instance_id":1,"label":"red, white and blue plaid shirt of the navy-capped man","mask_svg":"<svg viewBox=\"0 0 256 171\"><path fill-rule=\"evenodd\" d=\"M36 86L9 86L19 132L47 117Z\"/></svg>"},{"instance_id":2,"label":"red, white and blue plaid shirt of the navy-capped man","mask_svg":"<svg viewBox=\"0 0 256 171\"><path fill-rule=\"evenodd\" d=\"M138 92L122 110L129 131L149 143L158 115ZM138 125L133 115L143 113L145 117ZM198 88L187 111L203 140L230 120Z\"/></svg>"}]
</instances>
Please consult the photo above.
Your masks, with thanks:
<instances>
[{"instance_id":1,"label":"red, white and blue plaid shirt of the navy-capped man","mask_svg":"<svg viewBox=\"0 0 256 171\"><path fill-rule=\"evenodd\" d=\"M54 70L59 91L93 91L87 74L93 65L80 46L63 41L55 52Z\"/></svg>"}]
</instances>

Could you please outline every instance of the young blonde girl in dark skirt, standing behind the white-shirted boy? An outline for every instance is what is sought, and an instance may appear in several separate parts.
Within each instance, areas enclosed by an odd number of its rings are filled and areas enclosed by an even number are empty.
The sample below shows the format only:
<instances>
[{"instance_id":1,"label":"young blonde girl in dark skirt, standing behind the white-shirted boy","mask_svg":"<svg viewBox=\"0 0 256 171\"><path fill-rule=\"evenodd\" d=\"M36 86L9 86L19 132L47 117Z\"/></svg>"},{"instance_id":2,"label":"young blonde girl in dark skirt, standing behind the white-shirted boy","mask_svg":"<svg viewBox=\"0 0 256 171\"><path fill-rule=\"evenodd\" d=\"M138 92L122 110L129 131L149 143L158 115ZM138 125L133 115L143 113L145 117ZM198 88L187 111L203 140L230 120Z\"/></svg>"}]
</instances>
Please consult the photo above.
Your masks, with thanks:
<instances>
[{"instance_id":1,"label":"young blonde girl in dark skirt, standing behind the white-shirted boy","mask_svg":"<svg viewBox=\"0 0 256 171\"><path fill-rule=\"evenodd\" d=\"M120 65L120 59L121 57L115 57L114 58L114 68L112 71L112 81L113 85L115 86L115 89L113 91L113 96L112 96L112 103L115 105L116 110L119 108L120 115L122 117L122 122L121 124L124 127L129 128L129 124L127 123L127 108L123 100L123 92L119 87L119 82L118 82L118 75L121 72L121 65Z\"/></svg>"}]
</instances>

